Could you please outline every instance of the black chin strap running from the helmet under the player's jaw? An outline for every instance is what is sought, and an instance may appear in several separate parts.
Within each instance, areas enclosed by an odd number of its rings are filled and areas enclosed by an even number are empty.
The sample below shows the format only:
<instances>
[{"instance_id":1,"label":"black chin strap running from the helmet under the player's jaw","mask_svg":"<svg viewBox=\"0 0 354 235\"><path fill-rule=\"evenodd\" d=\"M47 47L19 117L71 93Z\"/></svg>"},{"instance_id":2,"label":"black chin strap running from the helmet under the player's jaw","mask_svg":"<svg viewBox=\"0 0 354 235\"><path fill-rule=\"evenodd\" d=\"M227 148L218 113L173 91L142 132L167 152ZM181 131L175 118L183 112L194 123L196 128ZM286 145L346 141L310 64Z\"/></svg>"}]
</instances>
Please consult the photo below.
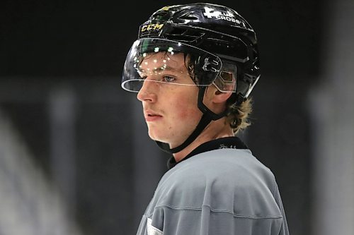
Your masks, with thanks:
<instances>
[{"instance_id":1,"label":"black chin strap running from the helmet under the player's jaw","mask_svg":"<svg viewBox=\"0 0 354 235\"><path fill-rule=\"evenodd\" d=\"M207 125L211 121L215 121L217 119L221 119L223 116L226 115L226 110L222 112L221 114L215 114L212 112L210 109L208 109L205 104L203 104L202 100L204 97L204 93L207 87L199 87L199 92L198 92L198 108L202 112L202 118L200 119L198 126L195 128L195 130L189 135L189 137L179 146L170 148L168 143L163 143L160 141L155 141L156 144L161 148L161 150L164 150L165 152L169 153L176 153L180 152L181 150L185 149L190 143L192 143L199 135L204 131L204 129L207 127Z\"/></svg>"}]
</instances>

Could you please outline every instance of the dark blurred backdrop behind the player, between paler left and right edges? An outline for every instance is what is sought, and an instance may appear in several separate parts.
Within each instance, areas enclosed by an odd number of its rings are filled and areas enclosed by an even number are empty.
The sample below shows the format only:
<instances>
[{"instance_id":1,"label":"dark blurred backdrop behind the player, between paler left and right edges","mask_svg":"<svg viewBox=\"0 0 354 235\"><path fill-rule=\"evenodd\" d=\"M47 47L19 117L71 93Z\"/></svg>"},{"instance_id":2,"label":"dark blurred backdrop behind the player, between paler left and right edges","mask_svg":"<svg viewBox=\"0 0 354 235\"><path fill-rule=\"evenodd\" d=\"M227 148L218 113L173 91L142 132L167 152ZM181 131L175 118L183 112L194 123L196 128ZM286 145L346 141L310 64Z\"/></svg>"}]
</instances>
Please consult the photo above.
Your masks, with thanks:
<instances>
[{"instance_id":1,"label":"dark blurred backdrop behind the player, between paler left and right edges","mask_svg":"<svg viewBox=\"0 0 354 235\"><path fill-rule=\"evenodd\" d=\"M139 104L120 88L120 75L139 25L162 6L185 3L1 1L0 109L47 178L62 187L84 234L134 234L166 171L168 156L147 143L146 127L135 117ZM324 1L213 3L236 9L257 32L262 76L253 90L253 125L241 137L275 174L291 234L310 234L313 150L306 103L307 89L321 79ZM55 173L51 157L57 127L50 110L63 91L73 105L66 119L69 184L60 182L65 172Z\"/></svg>"}]
</instances>

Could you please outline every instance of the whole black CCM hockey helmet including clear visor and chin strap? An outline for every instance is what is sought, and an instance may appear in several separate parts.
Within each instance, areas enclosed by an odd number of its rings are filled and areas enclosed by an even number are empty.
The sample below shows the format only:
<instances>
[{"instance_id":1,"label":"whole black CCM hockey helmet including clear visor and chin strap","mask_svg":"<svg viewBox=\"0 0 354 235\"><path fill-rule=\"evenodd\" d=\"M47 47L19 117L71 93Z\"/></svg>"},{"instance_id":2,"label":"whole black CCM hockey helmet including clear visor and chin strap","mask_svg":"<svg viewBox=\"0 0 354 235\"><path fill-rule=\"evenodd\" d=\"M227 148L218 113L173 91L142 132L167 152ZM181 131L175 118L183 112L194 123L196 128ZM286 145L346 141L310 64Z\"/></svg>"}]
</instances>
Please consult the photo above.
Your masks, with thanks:
<instances>
[{"instance_id":1,"label":"whole black CCM hockey helmet including clear visor and chin strap","mask_svg":"<svg viewBox=\"0 0 354 235\"><path fill-rule=\"evenodd\" d=\"M200 88L198 107L204 114L195 131L182 145L171 150L168 145L158 142L167 152L183 150L210 121L226 114L215 114L202 103L208 85L214 84L221 92L233 92L229 101L239 104L246 100L260 77L256 34L239 13L225 6L165 6L153 13L140 26L138 40L127 55L122 88L139 92L144 83L141 63L147 54L154 52L192 55L195 63L191 78Z\"/></svg>"}]
</instances>

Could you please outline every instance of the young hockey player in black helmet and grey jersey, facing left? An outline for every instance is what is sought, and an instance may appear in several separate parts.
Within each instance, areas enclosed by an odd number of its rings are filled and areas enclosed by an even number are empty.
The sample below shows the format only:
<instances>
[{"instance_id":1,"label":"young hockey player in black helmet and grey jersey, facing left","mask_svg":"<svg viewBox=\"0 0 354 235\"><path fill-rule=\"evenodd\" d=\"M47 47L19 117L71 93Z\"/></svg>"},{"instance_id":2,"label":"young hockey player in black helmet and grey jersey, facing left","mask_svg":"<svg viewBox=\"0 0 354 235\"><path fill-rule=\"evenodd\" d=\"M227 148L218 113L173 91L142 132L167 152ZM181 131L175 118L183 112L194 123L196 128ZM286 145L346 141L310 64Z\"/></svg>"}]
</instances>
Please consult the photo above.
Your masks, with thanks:
<instances>
[{"instance_id":1,"label":"young hockey player in black helmet and grey jersey, facing left","mask_svg":"<svg viewBox=\"0 0 354 235\"><path fill-rule=\"evenodd\" d=\"M234 136L259 77L256 34L230 8L166 6L140 26L122 88L173 157L137 234L288 234L273 174Z\"/></svg>"}]
</instances>

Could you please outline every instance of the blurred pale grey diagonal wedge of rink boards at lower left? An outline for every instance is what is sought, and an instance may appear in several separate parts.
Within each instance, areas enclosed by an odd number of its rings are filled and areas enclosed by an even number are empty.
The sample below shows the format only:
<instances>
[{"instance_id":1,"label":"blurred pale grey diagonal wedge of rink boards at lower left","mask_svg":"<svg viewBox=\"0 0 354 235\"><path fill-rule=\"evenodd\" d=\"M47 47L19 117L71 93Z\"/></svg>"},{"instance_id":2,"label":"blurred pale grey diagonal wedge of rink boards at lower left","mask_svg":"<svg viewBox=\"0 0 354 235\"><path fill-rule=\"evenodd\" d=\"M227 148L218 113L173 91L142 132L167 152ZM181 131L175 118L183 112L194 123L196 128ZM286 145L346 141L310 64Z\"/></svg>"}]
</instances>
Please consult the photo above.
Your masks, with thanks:
<instances>
[{"instance_id":1,"label":"blurred pale grey diagonal wedge of rink boards at lower left","mask_svg":"<svg viewBox=\"0 0 354 235\"><path fill-rule=\"evenodd\" d=\"M30 155L0 109L0 234L80 235L57 188Z\"/></svg>"}]
</instances>

